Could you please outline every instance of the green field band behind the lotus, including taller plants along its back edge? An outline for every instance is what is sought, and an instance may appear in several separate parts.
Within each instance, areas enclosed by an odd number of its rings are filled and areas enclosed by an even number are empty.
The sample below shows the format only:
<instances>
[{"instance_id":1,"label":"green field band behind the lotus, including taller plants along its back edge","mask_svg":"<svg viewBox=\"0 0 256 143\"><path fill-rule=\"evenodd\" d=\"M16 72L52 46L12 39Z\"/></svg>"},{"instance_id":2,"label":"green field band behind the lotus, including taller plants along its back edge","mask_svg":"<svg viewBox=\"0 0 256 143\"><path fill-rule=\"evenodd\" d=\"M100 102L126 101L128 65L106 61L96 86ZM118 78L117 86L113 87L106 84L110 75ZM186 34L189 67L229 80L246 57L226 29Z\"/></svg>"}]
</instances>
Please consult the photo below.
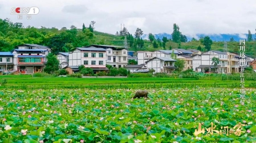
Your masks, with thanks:
<instances>
[{"instance_id":1,"label":"green field band behind the lotus, including taller plants along its back edge","mask_svg":"<svg viewBox=\"0 0 256 143\"><path fill-rule=\"evenodd\" d=\"M180 78L182 75L182 79ZM55 77L54 77L55 76ZM244 74L245 87L256 87L256 75ZM151 74L131 73L128 78L81 78L81 74L56 77L56 74L35 73L31 75L0 76L6 84L0 89L133 89L178 87L224 87L240 88L240 75L221 74ZM7 80L7 81L6 81Z\"/></svg>"}]
</instances>

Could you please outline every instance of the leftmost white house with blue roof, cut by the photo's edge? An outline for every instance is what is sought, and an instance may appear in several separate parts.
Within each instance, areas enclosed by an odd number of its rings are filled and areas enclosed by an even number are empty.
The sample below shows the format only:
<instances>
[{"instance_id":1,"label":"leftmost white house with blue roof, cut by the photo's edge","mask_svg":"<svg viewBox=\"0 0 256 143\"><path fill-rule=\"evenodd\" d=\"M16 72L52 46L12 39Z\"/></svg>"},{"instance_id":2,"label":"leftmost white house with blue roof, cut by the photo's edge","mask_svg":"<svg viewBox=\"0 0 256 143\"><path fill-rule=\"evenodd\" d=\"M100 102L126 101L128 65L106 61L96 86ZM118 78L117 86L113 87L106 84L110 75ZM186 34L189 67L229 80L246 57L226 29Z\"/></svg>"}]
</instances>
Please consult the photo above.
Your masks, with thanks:
<instances>
[{"instance_id":1,"label":"leftmost white house with blue roof, cut by the photo's edge","mask_svg":"<svg viewBox=\"0 0 256 143\"><path fill-rule=\"evenodd\" d=\"M13 54L11 52L0 52L0 73L12 71L13 65Z\"/></svg>"}]
</instances>

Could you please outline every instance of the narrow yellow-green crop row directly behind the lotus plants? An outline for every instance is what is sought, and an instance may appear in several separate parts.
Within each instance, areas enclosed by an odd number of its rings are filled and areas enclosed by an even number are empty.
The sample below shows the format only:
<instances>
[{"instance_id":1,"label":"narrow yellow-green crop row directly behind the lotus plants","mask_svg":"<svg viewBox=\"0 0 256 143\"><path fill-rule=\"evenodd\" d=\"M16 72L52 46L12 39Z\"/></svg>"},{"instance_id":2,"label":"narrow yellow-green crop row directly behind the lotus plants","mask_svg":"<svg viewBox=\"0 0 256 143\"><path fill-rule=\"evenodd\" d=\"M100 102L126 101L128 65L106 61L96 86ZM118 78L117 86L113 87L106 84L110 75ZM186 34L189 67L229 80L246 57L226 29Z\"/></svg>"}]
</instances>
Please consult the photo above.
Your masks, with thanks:
<instances>
[{"instance_id":1,"label":"narrow yellow-green crop row directly behind the lotus plants","mask_svg":"<svg viewBox=\"0 0 256 143\"><path fill-rule=\"evenodd\" d=\"M224 88L239 88L239 82L234 83L140 83L140 84L19 84L7 85L5 89L151 89L151 88L196 88L196 87L224 87ZM244 87L255 88L256 82L246 83Z\"/></svg>"}]
</instances>

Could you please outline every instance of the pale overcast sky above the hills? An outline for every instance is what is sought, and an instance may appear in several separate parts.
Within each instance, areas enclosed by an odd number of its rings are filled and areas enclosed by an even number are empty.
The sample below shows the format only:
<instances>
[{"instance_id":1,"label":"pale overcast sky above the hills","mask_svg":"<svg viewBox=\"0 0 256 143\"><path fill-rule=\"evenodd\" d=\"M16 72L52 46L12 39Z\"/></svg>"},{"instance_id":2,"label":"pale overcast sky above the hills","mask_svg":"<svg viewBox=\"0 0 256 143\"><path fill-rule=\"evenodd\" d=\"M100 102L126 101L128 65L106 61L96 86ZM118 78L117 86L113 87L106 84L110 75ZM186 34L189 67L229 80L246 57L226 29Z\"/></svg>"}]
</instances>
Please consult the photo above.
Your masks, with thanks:
<instances>
[{"instance_id":1,"label":"pale overcast sky above the hills","mask_svg":"<svg viewBox=\"0 0 256 143\"><path fill-rule=\"evenodd\" d=\"M31 20L11 15L13 7L38 7ZM0 18L35 27L78 28L92 20L97 31L115 34L121 23L132 34L172 33L173 23L188 36L195 34L254 34L255 0L0 0Z\"/></svg>"}]
</instances>

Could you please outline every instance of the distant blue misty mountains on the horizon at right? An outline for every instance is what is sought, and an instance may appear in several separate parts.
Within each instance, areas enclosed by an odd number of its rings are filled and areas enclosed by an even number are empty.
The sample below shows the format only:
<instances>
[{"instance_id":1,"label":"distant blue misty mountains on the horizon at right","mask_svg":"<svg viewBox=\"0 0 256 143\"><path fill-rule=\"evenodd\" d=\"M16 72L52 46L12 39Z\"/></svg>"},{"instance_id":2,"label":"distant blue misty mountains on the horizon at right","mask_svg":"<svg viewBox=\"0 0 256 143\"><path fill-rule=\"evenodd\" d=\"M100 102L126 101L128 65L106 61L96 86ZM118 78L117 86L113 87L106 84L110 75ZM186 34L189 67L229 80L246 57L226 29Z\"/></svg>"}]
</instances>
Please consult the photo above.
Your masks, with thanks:
<instances>
[{"instance_id":1,"label":"distant blue misty mountains on the horizon at right","mask_svg":"<svg viewBox=\"0 0 256 143\"><path fill-rule=\"evenodd\" d=\"M256 37L255 34L253 35L253 39ZM154 34L155 39L160 38L162 39L163 36L166 36L167 39L171 39L172 38L172 34L168 34L168 33L159 33L159 34ZM239 39L247 39L248 34L196 34L195 36L189 36L186 35L188 41L191 41L191 39L194 37L195 39L199 39L200 37L204 37L204 36L209 36L212 41L230 41L230 38L233 37L234 41L239 42ZM142 39L148 39L148 34L143 34L143 36L141 36Z\"/></svg>"}]
</instances>

